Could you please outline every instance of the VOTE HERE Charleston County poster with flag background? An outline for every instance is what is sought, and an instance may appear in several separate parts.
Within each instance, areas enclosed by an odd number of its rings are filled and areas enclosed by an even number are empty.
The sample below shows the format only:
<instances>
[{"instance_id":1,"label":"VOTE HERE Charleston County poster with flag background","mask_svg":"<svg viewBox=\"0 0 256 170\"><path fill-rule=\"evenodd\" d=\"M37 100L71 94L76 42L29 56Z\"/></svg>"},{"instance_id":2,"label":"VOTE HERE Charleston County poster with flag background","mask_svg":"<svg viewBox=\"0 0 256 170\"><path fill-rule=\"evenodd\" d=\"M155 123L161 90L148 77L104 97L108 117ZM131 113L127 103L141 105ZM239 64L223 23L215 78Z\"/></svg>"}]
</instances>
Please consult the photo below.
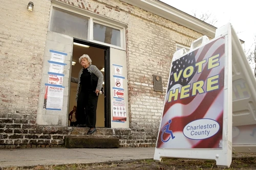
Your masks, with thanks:
<instances>
[{"instance_id":1,"label":"VOTE HERE Charleston County poster with flag background","mask_svg":"<svg viewBox=\"0 0 256 170\"><path fill-rule=\"evenodd\" d=\"M156 148L222 148L225 37L172 62Z\"/></svg>"}]
</instances>

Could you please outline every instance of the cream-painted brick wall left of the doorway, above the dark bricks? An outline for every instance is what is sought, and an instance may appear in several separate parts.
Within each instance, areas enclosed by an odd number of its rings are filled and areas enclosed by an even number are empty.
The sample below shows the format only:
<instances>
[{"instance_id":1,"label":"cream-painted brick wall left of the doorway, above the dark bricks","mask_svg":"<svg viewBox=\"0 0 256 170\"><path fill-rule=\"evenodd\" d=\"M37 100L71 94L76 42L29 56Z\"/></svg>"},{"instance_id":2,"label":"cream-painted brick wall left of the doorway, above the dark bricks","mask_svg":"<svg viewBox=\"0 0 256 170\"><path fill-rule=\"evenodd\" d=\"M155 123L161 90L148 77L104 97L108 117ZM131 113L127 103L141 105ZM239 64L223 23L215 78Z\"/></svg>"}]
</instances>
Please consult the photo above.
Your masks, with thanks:
<instances>
[{"instance_id":1,"label":"cream-painted brick wall left of the doorway, above the dark bricks","mask_svg":"<svg viewBox=\"0 0 256 170\"><path fill-rule=\"evenodd\" d=\"M0 114L36 114L51 2L1 1ZM15 116L14 116L15 117Z\"/></svg>"}]
</instances>

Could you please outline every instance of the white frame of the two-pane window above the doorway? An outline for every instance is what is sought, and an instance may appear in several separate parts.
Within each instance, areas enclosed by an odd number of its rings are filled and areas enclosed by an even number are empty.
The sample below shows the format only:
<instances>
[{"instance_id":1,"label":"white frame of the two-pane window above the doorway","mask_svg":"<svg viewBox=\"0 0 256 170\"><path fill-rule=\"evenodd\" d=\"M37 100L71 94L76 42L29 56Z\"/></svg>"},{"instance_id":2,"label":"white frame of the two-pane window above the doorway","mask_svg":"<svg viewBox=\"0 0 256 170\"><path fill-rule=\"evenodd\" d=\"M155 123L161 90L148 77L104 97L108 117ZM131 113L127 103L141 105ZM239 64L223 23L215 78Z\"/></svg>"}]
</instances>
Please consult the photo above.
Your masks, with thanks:
<instances>
[{"instance_id":1,"label":"white frame of the two-pane window above the doorway","mask_svg":"<svg viewBox=\"0 0 256 170\"><path fill-rule=\"evenodd\" d=\"M125 42L125 27L126 26L123 23L115 21L115 20L107 18L107 17L99 16L98 14L94 14L92 12L77 9L77 8L74 8L74 7L72 7L70 5L66 5L66 4L58 5L58 4L52 3L51 10L50 10L50 16L49 16L48 31L50 31L50 28L51 28L51 18L52 18L53 8L89 18L88 40L85 40L85 41L89 41L89 42L93 42L93 43L97 43L97 44L101 44L101 45L105 45L105 46L110 46L113 48L117 48L119 50L124 50L124 51L126 50L126 42ZM99 23L106 27L111 27L113 29L120 30L120 46L93 40L93 22Z\"/></svg>"}]
</instances>

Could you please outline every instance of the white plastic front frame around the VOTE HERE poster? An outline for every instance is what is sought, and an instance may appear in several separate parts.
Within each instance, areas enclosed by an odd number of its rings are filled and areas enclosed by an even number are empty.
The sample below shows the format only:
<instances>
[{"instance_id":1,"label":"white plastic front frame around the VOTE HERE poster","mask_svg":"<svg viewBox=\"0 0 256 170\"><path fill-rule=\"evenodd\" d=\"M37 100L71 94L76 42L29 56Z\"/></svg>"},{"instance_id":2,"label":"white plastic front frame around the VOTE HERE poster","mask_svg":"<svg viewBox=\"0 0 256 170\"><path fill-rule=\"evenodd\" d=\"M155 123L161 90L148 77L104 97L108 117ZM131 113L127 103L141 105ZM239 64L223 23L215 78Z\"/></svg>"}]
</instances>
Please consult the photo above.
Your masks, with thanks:
<instances>
[{"instance_id":1,"label":"white plastic front frame around the VOTE HERE poster","mask_svg":"<svg viewBox=\"0 0 256 170\"><path fill-rule=\"evenodd\" d=\"M209 159L216 160L219 167L229 167L232 161L232 48L231 48L231 25L227 25L217 29L216 36L212 40L208 40L206 36L203 36L195 40L191 44L191 49L188 53L191 53L198 48L210 43L220 37L225 37L225 68L224 68L224 108L223 108L223 132L222 132L222 148L213 149L170 149L170 148L155 148L154 160L161 160L163 157L173 158L189 158L189 159ZM198 46L202 43L200 46ZM195 47L194 47L195 46ZM185 52L185 53L184 53ZM186 55L185 48L177 51L174 54L173 62ZM169 75L171 74L171 70ZM170 79L170 76L169 76ZM169 83L168 83L169 84ZM167 100L168 92L165 95L165 101ZM165 102L163 108L165 106ZM161 117L162 123L162 117ZM161 131L161 123L159 126L159 134ZM157 140L158 141L158 140ZM171 140L170 140L171 141Z\"/></svg>"}]
</instances>

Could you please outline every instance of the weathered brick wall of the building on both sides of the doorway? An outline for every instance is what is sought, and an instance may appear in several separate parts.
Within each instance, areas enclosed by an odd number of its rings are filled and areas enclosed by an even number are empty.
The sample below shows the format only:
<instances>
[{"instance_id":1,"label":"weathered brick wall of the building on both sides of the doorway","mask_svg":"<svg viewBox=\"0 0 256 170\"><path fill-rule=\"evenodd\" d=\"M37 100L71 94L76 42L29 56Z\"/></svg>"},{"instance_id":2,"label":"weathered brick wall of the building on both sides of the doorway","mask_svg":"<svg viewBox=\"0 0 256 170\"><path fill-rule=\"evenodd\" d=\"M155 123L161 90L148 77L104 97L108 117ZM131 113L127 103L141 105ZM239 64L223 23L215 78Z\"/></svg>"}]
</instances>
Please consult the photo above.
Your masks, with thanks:
<instances>
[{"instance_id":1,"label":"weathered brick wall of the building on both sides of the doorway","mask_svg":"<svg viewBox=\"0 0 256 170\"><path fill-rule=\"evenodd\" d=\"M162 76L166 87L175 42L190 45L202 35L118 0L59 1L127 25L131 131L109 129L109 135L120 136L123 147L155 147L166 88L163 93L154 91L152 75ZM0 145L5 144L2 148L62 146L66 135L83 135L84 130L35 125L51 4L48 0L34 1L34 11L29 13L27 3L10 0L1 6ZM108 136L104 130L101 134Z\"/></svg>"}]
</instances>

